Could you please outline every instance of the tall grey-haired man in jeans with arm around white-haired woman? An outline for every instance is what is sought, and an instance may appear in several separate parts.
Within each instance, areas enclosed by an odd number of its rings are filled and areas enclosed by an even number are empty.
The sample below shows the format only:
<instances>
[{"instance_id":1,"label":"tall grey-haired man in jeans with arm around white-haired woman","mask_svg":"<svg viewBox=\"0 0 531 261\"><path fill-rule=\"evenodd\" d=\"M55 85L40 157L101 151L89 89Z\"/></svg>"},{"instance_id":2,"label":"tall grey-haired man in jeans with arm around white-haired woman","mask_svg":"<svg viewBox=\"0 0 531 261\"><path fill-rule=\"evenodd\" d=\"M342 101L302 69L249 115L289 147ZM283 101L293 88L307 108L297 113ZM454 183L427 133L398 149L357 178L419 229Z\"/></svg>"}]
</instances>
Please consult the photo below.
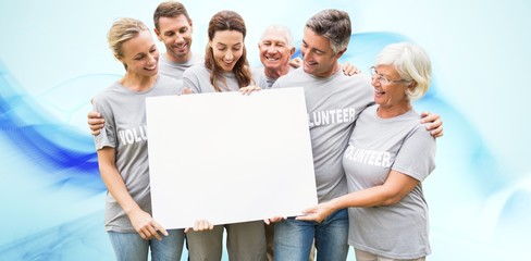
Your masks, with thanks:
<instances>
[{"instance_id":1,"label":"tall grey-haired man in jeans with arm around white-haired woman","mask_svg":"<svg viewBox=\"0 0 531 261\"><path fill-rule=\"evenodd\" d=\"M272 86L304 87L319 202L347 194L343 152L359 113L373 102L374 89L367 77L341 72L338 60L347 50L350 35L348 13L317 13L305 26L301 69L280 77ZM423 121L435 121L430 128L439 128L434 136L442 135L439 115ZM275 224L274 259L307 260L314 240L318 261L344 261L348 254L347 237L347 209L321 223L288 217Z\"/></svg>"}]
</instances>

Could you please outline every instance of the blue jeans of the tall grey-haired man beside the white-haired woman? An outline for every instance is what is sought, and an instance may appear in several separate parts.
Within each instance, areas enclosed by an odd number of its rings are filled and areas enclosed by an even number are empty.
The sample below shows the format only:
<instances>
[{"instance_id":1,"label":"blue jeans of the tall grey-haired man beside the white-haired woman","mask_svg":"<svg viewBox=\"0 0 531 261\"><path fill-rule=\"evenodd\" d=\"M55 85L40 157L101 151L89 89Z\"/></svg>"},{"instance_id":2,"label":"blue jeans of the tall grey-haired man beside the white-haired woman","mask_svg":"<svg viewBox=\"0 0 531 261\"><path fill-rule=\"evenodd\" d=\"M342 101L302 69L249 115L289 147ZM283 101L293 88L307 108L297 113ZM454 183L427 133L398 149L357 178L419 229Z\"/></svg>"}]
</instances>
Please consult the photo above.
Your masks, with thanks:
<instances>
[{"instance_id":1,"label":"blue jeans of the tall grey-haired man beside the white-haired woman","mask_svg":"<svg viewBox=\"0 0 531 261\"><path fill-rule=\"evenodd\" d=\"M274 226L274 260L307 261L316 241L318 261L345 261L348 254L348 212L331 214L322 223L287 219Z\"/></svg>"}]
</instances>

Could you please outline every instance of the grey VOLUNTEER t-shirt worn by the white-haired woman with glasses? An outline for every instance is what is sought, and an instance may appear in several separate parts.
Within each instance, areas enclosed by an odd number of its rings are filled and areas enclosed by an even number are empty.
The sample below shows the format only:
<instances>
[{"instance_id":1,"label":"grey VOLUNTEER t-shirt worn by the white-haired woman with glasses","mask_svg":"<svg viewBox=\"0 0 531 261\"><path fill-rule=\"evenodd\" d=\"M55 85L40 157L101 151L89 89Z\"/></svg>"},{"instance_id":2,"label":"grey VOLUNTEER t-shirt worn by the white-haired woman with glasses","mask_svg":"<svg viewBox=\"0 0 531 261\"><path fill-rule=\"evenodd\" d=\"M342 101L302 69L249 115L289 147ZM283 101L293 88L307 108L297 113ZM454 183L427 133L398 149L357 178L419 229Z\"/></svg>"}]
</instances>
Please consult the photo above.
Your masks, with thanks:
<instances>
[{"instance_id":1,"label":"grey VOLUNTEER t-shirt worn by the white-haired woman with glasses","mask_svg":"<svg viewBox=\"0 0 531 261\"><path fill-rule=\"evenodd\" d=\"M428 204L421 182L435 169L435 139L413 110L392 117L376 115L378 105L358 117L343 158L348 191L385 183L395 170L419 181L399 202L387 207L349 208L348 244L393 259L428 256Z\"/></svg>"}]
</instances>

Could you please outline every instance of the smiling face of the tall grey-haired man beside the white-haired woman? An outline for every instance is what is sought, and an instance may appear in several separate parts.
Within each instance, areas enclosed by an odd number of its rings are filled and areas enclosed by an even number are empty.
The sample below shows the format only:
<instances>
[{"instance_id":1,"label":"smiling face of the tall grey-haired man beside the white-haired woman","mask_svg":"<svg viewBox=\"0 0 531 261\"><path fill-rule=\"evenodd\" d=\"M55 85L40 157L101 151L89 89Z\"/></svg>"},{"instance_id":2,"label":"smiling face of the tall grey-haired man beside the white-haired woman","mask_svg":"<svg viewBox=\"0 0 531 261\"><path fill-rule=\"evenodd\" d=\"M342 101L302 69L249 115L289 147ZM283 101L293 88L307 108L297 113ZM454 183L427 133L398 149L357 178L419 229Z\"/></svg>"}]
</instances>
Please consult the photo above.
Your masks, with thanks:
<instances>
[{"instance_id":1,"label":"smiling face of the tall grey-haired man beside the white-haired woman","mask_svg":"<svg viewBox=\"0 0 531 261\"><path fill-rule=\"evenodd\" d=\"M334 53L330 40L316 34L310 28L305 28L302 45L302 69L306 73L317 77L329 77L338 70L337 60L344 51Z\"/></svg>"}]
</instances>

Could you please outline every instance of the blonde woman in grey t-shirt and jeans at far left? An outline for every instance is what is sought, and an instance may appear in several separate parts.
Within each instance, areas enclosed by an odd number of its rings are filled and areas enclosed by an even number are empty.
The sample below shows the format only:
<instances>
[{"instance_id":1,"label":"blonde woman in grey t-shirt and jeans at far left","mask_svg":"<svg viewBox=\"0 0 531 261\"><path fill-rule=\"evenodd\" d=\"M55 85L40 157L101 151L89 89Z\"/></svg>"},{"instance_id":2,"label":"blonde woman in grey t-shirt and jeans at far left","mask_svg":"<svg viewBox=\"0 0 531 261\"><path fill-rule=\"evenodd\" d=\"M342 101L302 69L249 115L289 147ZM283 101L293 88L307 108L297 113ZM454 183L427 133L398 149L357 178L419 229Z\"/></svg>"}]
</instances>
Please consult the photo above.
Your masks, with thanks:
<instances>
[{"instance_id":1,"label":"blonde woman in grey t-shirt and jeans at far left","mask_svg":"<svg viewBox=\"0 0 531 261\"><path fill-rule=\"evenodd\" d=\"M182 83L158 74L159 51L140 21L118 20L108 41L125 75L92 100L95 111L107 120L95 136L101 178L109 190L106 231L116 260L146 261L149 250L151 260L181 260L184 231L165 231L151 217L145 100L176 95Z\"/></svg>"}]
</instances>

